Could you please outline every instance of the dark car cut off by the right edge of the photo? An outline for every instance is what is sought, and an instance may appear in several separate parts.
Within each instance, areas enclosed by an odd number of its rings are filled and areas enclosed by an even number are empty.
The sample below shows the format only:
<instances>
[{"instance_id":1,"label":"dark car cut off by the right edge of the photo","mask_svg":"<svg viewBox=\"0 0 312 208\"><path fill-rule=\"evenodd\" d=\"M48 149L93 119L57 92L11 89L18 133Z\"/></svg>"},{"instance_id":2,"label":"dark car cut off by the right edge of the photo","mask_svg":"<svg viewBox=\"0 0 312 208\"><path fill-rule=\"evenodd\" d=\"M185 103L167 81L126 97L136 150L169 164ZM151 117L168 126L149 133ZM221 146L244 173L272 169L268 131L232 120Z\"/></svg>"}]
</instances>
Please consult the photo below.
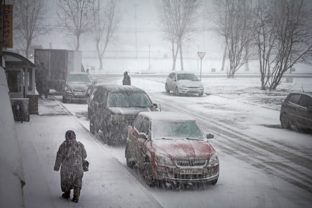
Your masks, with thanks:
<instances>
[{"instance_id":1,"label":"dark car cut off by the right edge of the photo","mask_svg":"<svg viewBox=\"0 0 312 208\"><path fill-rule=\"evenodd\" d=\"M312 129L312 92L290 93L280 107L280 124Z\"/></svg>"}]
</instances>

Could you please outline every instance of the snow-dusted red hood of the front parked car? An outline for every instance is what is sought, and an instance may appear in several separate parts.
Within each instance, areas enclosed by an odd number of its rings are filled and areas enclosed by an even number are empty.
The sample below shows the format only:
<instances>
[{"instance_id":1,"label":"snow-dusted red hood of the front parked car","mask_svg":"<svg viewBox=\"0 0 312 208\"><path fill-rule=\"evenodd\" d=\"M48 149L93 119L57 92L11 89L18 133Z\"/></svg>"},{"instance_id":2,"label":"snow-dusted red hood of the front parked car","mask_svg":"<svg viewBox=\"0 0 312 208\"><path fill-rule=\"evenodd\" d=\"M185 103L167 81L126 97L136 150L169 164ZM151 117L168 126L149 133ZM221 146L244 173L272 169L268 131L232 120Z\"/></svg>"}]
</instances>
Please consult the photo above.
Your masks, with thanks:
<instances>
[{"instance_id":1,"label":"snow-dusted red hood of the front parked car","mask_svg":"<svg viewBox=\"0 0 312 208\"><path fill-rule=\"evenodd\" d=\"M155 149L155 152L171 159L188 157L210 158L216 153L210 143L204 141L153 140L151 146Z\"/></svg>"}]
</instances>

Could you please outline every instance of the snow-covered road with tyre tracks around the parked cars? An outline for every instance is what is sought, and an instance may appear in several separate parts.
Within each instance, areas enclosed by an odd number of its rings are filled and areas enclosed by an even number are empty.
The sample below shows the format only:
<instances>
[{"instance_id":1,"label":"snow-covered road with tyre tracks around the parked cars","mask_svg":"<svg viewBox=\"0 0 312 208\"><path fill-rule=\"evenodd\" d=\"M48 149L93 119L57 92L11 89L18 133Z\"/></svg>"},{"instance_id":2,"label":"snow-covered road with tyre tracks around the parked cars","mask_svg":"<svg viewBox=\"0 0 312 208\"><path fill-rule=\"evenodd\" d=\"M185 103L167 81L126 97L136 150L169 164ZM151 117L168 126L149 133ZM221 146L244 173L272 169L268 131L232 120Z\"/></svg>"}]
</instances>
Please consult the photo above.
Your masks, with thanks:
<instances>
[{"instance_id":1,"label":"snow-covered road with tyre tracks around the parked cars","mask_svg":"<svg viewBox=\"0 0 312 208\"><path fill-rule=\"evenodd\" d=\"M97 75L99 83L121 83L119 77ZM280 104L263 102L284 99L289 92L267 93L257 89L257 80L205 78L203 97L166 94L161 77L131 77L132 85L144 89L162 111L190 114L206 132L220 159L220 177L215 186L147 187L138 170L129 169L124 147L110 151L163 207L309 207L312 202L312 136L305 129L280 128ZM306 91L310 79L298 79ZM53 94L53 92L52 92ZM41 114L71 113L89 129L86 104L41 101ZM44 107L45 106L45 107ZM48 107L47 107L48 106ZM40 107L40 106L39 106ZM39 108L40 113L40 108ZM99 141L101 136L97 135Z\"/></svg>"}]
</instances>

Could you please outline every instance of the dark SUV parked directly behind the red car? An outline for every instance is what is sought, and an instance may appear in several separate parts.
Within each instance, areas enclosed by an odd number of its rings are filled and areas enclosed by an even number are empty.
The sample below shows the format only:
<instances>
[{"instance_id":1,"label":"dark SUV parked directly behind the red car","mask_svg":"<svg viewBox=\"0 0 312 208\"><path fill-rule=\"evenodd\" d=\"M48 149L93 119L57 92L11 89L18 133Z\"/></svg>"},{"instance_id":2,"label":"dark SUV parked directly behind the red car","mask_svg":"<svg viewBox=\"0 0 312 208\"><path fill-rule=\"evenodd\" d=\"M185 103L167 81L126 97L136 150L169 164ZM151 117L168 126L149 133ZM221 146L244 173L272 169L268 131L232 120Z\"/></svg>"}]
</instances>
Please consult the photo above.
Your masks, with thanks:
<instances>
[{"instance_id":1,"label":"dark SUV parked directly behind the red car","mask_svg":"<svg viewBox=\"0 0 312 208\"><path fill-rule=\"evenodd\" d=\"M90 132L103 132L108 144L125 144L140 112L158 111L144 90L129 85L101 85L90 103Z\"/></svg>"}]
</instances>

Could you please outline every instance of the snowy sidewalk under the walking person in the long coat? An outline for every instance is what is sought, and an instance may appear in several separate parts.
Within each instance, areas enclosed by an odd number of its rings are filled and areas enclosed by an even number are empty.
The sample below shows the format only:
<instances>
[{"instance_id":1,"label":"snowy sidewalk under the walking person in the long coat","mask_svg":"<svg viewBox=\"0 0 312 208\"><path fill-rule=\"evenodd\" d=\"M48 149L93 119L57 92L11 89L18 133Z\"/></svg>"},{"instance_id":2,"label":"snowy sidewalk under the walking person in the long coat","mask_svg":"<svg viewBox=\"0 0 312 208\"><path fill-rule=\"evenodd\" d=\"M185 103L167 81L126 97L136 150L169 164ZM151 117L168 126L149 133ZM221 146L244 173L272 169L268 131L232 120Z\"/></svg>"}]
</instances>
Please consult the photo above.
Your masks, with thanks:
<instances>
[{"instance_id":1,"label":"snowy sidewalk under the walking person in the long coat","mask_svg":"<svg viewBox=\"0 0 312 208\"><path fill-rule=\"evenodd\" d=\"M54 102L57 106L57 101ZM15 122L15 125L25 173L26 208L161 207L125 167L107 153L105 146L92 138L71 115L31 115L30 122ZM69 129L74 130L77 140L84 144L88 155L86 160L90 162L89 171L84 172L78 203L61 197L60 171L53 170L56 152Z\"/></svg>"}]
</instances>

